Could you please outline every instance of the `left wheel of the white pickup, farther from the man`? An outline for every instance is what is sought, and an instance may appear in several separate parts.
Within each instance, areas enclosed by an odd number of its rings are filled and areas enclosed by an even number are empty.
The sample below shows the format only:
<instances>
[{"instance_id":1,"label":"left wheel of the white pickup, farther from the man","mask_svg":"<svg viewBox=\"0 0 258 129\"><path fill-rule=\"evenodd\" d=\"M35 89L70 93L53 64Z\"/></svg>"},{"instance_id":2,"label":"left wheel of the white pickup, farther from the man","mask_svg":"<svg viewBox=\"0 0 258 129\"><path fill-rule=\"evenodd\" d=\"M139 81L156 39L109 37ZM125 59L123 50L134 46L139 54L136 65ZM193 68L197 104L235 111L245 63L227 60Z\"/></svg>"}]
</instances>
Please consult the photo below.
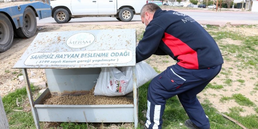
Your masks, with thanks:
<instances>
[{"instance_id":1,"label":"left wheel of the white pickup, farther from the man","mask_svg":"<svg viewBox=\"0 0 258 129\"><path fill-rule=\"evenodd\" d=\"M69 17L69 13L66 9L57 9L54 12L54 19L57 23L67 23L69 21Z\"/></svg>"}]
</instances>

